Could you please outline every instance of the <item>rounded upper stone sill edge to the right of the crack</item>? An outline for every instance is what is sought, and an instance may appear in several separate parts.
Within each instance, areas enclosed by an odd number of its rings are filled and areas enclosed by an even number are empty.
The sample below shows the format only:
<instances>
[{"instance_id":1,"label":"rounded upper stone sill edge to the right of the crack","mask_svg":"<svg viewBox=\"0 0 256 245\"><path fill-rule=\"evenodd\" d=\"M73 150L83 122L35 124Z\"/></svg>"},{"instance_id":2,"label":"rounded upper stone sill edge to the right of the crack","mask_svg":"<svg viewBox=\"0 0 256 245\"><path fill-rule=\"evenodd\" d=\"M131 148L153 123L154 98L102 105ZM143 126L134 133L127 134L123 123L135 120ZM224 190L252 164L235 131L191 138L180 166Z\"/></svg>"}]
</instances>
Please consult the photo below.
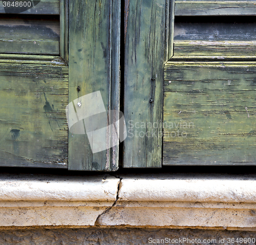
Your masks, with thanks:
<instances>
[{"instance_id":1,"label":"rounded upper stone sill edge to the right of the crack","mask_svg":"<svg viewBox=\"0 0 256 245\"><path fill-rule=\"evenodd\" d=\"M256 202L256 176L161 174L122 176L120 201Z\"/></svg>"}]
</instances>

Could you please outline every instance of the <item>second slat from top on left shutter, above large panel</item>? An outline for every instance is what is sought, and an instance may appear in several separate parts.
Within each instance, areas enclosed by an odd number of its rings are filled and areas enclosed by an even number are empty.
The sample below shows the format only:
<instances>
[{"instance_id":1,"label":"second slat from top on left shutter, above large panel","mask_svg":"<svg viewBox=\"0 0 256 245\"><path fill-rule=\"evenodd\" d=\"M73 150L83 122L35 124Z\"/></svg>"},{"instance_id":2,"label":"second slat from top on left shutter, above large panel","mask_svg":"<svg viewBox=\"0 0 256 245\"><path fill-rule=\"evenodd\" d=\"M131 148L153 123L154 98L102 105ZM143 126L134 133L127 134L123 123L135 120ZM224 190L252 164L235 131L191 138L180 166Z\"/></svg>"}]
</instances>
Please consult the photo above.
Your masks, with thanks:
<instances>
[{"instance_id":1,"label":"second slat from top on left shutter, above large panel","mask_svg":"<svg viewBox=\"0 0 256 245\"><path fill-rule=\"evenodd\" d=\"M0 53L59 55L59 19L2 15Z\"/></svg>"}]
</instances>

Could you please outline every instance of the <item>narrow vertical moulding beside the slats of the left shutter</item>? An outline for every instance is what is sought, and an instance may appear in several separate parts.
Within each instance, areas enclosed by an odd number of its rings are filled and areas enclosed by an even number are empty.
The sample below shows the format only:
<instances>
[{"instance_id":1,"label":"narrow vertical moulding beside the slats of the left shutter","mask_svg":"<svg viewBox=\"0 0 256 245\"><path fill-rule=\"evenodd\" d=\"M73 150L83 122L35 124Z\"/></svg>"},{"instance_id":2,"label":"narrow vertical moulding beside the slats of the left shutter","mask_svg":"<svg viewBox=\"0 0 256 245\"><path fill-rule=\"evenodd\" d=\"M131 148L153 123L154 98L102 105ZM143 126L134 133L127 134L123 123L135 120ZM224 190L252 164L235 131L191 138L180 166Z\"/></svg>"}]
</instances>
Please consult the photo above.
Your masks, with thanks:
<instances>
[{"instance_id":1,"label":"narrow vertical moulding beside the slats of the left shutter","mask_svg":"<svg viewBox=\"0 0 256 245\"><path fill-rule=\"evenodd\" d=\"M60 38L59 52L60 57L69 63L69 1L60 0Z\"/></svg>"}]
</instances>

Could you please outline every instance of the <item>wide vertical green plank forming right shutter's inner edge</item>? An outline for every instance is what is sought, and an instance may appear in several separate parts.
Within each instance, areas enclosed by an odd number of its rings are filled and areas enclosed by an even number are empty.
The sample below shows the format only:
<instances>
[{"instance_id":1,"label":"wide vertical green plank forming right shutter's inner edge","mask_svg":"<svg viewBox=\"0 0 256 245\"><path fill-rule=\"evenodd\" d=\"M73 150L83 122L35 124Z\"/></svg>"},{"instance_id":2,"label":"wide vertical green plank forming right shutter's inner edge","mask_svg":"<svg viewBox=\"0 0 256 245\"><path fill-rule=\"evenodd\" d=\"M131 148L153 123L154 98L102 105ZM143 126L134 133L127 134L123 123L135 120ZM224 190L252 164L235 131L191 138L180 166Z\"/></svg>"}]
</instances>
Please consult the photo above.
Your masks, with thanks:
<instances>
[{"instance_id":1,"label":"wide vertical green plank forming right shutter's inner edge","mask_svg":"<svg viewBox=\"0 0 256 245\"><path fill-rule=\"evenodd\" d=\"M124 167L161 167L166 1L126 0Z\"/></svg>"}]
</instances>

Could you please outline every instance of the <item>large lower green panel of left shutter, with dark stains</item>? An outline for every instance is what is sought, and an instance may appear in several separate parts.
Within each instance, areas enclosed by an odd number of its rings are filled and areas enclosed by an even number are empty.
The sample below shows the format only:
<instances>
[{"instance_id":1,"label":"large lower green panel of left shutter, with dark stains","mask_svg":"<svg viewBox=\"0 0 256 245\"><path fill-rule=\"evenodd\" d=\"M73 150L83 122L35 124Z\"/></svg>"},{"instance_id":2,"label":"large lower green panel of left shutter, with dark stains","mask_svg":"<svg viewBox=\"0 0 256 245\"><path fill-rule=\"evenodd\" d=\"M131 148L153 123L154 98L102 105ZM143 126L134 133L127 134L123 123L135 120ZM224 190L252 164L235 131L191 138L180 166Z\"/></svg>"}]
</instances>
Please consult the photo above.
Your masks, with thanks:
<instances>
[{"instance_id":1,"label":"large lower green panel of left shutter, with dark stains","mask_svg":"<svg viewBox=\"0 0 256 245\"><path fill-rule=\"evenodd\" d=\"M68 67L54 56L12 58L0 56L0 166L67 168Z\"/></svg>"}]
</instances>

